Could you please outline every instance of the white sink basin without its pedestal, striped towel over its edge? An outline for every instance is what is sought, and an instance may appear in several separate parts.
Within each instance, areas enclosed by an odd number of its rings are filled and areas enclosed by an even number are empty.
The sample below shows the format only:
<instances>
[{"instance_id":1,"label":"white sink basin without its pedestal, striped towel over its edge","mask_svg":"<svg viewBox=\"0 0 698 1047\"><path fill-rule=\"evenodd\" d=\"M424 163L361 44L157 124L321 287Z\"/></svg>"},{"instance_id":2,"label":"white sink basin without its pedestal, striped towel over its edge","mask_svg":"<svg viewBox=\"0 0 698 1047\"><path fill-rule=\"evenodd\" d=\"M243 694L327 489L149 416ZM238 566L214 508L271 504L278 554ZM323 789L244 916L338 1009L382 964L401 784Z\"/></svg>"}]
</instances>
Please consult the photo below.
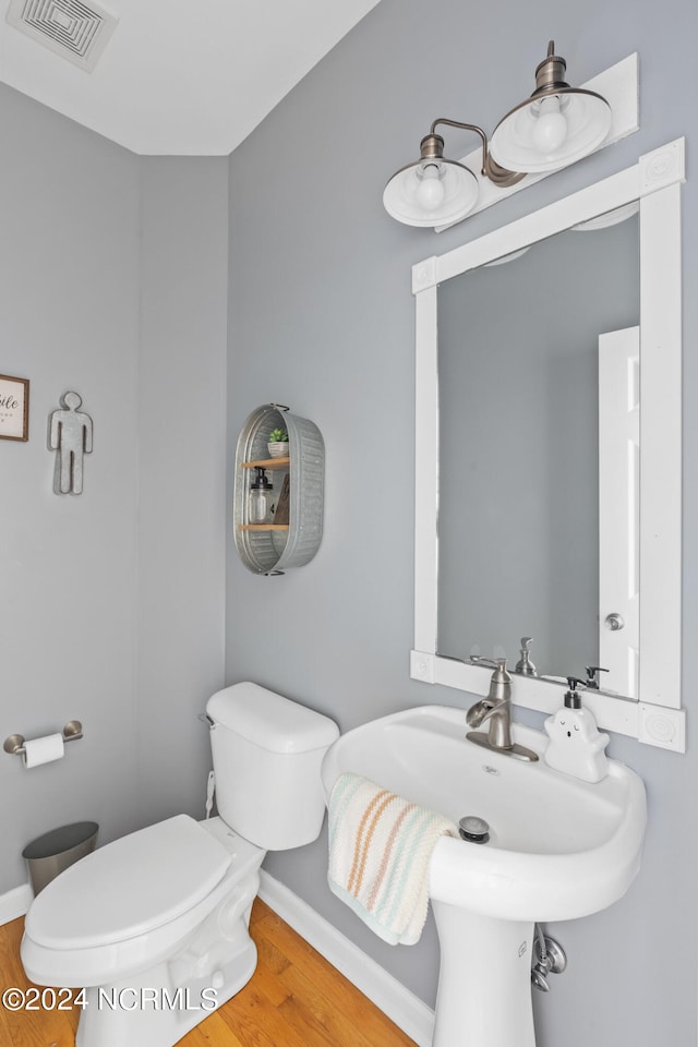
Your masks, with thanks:
<instances>
[{"instance_id":1,"label":"white sink basin without its pedestal, striped towel over its edge","mask_svg":"<svg viewBox=\"0 0 698 1047\"><path fill-rule=\"evenodd\" d=\"M465 712L422 706L342 735L327 753L329 797L344 771L363 774L456 825L477 815L490 841L444 837L430 868L432 899L504 919L573 919L605 908L637 874L645 837L641 780L609 761L597 784L542 759L547 735L513 724L515 742L541 756L524 763L466 741Z\"/></svg>"}]
</instances>

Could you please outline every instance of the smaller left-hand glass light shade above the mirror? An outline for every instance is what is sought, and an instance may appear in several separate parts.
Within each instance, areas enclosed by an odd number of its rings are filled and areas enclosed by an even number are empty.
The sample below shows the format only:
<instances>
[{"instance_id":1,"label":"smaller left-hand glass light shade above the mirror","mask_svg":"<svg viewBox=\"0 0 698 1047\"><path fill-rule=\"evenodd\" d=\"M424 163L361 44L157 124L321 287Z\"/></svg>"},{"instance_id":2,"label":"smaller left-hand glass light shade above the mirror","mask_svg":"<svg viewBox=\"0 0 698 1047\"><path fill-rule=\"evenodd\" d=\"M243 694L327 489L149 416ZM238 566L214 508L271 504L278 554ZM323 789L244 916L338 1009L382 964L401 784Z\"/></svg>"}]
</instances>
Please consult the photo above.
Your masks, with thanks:
<instances>
[{"instance_id":1,"label":"smaller left-hand glass light shade above the mirror","mask_svg":"<svg viewBox=\"0 0 698 1047\"><path fill-rule=\"evenodd\" d=\"M418 160L397 171L383 193L383 206L406 226L459 221L478 202L478 179L456 160Z\"/></svg>"}]
</instances>

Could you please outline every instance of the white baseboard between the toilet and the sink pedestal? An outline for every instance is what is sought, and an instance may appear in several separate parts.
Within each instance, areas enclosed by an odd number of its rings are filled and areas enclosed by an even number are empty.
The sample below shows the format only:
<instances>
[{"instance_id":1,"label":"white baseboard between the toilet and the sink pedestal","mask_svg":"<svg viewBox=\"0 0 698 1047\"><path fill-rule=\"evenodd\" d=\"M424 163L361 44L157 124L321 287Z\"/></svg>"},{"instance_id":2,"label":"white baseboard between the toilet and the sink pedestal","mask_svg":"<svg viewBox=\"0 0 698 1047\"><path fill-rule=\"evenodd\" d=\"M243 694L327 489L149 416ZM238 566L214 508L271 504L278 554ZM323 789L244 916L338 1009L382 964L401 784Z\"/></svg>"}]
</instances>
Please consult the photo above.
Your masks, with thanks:
<instances>
[{"instance_id":1,"label":"white baseboard between the toilet and the sink pedestal","mask_svg":"<svg viewBox=\"0 0 698 1047\"><path fill-rule=\"evenodd\" d=\"M419 1044L419 1047L430 1047L434 1035L432 1009L288 887L264 869L260 876L262 901L356 985L410 1039Z\"/></svg>"}]
</instances>

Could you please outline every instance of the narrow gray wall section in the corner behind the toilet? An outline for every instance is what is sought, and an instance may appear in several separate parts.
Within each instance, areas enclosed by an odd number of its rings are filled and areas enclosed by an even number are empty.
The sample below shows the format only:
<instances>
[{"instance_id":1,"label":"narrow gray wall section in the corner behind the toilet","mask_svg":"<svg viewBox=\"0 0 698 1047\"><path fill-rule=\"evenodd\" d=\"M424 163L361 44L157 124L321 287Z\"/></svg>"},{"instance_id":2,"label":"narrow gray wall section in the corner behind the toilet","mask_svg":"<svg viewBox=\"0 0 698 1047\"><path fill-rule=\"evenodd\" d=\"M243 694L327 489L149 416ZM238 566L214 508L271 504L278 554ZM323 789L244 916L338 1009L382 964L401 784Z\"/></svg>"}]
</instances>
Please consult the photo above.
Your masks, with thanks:
<instances>
[{"instance_id":1,"label":"narrow gray wall section in the corner behind the toilet","mask_svg":"<svg viewBox=\"0 0 698 1047\"><path fill-rule=\"evenodd\" d=\"M224 683L227 159L142 163L140 820L203 816Z\"/></svg>"}]
</instances>

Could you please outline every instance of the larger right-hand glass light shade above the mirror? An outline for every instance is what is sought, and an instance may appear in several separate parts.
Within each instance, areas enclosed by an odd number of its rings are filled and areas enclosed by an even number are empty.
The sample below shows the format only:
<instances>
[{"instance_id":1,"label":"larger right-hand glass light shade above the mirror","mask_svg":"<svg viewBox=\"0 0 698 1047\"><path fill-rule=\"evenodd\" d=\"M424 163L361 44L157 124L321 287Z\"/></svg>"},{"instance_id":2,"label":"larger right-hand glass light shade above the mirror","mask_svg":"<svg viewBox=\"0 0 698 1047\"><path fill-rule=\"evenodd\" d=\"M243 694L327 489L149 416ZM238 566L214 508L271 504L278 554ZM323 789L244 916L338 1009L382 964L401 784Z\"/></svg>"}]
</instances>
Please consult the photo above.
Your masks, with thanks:
<instances>
[{"instance_id":1,"label":"larger right-hand glass light shade above the mirror","mask_svg":"<svg viewBox=\"0 0 698 1047\"><path fill-rule=\"evenodd\" d=\"M552 122L552 118L558 124L557 110L551 112L552 98L558 99L559 115L567 124L564 135L557 133L558 125L542 129L539 122ZM579 87L562 88L530 98L508 112L494 129L490 153L509 170L530 174L556 171L601 145L611 122L611 107L601 95Z\"/></svg>"}]
</instances>

